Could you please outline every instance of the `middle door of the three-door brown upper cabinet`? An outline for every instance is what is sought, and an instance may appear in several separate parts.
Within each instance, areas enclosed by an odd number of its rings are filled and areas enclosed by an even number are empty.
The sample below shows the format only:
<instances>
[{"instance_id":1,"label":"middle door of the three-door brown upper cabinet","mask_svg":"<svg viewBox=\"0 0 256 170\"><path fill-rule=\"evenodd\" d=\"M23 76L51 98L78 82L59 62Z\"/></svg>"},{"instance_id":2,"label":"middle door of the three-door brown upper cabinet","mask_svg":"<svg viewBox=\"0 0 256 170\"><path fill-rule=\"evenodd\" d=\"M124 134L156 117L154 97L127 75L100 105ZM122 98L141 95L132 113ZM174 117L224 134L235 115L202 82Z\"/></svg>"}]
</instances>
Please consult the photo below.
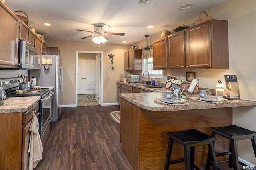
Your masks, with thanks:
<instances>
[{"instance_id":1,"label":"middle door of the three-door brown upper cabinet","mask_svg":"<svg viewBox=\"0 0 256 170\"><path fill-rule=\"evenodd\" d=\"M185 66L185 32L170 35L168 38L168 68Z\"/></svg>"}]
</instances>

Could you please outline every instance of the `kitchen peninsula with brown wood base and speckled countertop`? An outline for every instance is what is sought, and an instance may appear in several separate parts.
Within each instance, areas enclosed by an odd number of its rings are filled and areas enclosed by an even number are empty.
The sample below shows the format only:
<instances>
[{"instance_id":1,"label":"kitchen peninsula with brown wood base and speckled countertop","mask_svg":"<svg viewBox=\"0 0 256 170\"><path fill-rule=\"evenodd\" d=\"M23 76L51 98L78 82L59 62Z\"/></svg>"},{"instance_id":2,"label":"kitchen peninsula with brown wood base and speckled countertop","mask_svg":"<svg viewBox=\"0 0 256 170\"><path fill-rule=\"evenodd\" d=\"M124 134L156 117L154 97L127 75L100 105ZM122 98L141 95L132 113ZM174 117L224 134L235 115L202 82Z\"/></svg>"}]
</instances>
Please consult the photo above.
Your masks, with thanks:
<instances>
[{"instance_id":1,"label":"kitchen peninsula with brown wood base and speckled countertop","mask_svg":"<svg viewBox=\"0 0 256 170\"><path fill-rule=\"evenodd\" d=\"M162 170L168 146L168 131L198 129L208 135L210 127L232 124L232 107L255 106L255 101L231 100L227 102L201 102L186 95L188 105L161 104L157 98L164 93L121 93L120 142L122 152L134 170ZM154 100L156 102L154 102ZM228 141L222 137L216 142L215 151L228 150ZM207 146L195 149L195 164L206 162ZM183 158L182 145L174 142L172 159ZM227 158L217 158L217 161ZM170 165L170 169L184 168L184 162Z\"/></svg>"}]
</instances>

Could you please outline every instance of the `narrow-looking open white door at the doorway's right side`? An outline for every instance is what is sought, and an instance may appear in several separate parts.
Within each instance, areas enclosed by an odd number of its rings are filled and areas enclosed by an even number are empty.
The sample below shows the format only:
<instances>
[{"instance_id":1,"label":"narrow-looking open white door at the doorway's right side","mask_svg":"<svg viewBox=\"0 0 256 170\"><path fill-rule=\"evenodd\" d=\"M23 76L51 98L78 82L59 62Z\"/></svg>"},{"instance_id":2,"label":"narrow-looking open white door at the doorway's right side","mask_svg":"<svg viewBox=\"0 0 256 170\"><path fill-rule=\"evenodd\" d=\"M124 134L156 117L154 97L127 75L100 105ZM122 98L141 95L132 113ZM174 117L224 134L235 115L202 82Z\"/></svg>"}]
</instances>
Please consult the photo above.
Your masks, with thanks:
<instances>
[{"instance_id":1,"label":"narrow-looking open white door at the doorway's right side","mask_svg":"<svg viewBox=\"0 0 256 170\"><path fill-rule=\"evenodd\" d=\"M95 57L95 99L100 104L100 54Z\"/></svg>"}]
</instances>

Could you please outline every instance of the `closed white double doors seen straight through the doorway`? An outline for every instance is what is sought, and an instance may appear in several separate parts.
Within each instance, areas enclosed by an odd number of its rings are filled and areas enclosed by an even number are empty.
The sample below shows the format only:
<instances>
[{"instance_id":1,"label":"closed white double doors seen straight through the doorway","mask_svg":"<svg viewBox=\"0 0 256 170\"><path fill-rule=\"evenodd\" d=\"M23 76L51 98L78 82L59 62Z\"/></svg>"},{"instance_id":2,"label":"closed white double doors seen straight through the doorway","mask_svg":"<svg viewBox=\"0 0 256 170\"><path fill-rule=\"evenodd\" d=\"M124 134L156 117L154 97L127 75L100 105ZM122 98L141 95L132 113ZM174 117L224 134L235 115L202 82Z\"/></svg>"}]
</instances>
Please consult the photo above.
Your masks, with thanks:
<instances>
[{"instance_id":1,"label":"closed white double doors seen straight through the doorway","mask_svg":"<svg viewBox=\"0 0 256 170\"><path fill-rule=\"evenodd\" d=\"M78 94L95 94L95 59L78 59Z\"/></svg>"}]
</instances>

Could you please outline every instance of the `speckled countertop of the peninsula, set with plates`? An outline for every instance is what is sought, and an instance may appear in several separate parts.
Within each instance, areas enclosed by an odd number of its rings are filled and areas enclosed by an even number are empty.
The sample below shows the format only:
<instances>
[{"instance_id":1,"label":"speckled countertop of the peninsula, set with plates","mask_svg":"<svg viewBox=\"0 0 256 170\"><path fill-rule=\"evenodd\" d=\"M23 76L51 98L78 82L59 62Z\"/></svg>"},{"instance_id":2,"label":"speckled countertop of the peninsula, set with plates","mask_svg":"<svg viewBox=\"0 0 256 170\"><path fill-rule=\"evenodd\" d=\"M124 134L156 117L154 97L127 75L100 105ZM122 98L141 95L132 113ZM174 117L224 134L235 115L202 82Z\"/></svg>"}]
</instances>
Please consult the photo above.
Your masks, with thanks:
<instances>
[{"instance_id":1,"label":"speckled countertop of the peninsula, set with plates","mask_svg":"<svg viewBox=\"0 0 256 170\"><path fill-rule=\"evenodd\" d=\"M203 102L197 100L198 94L184 93L189 100L189 105L182 106L179 104L160 104L155 102L156 98L164 98L164 92L155 93L120 93L119 96L142 109L151 111L181 111L181 110L195 110L195 109L215 109L224 107L239 107L239 106L255 106L256 101L250 100L230 100L226 102ZM193 98L193 99L192 99ZM186 102L187 103L187 102ZM185 103L184 103L185 104Z\"/></svg>"}]
</instances>

